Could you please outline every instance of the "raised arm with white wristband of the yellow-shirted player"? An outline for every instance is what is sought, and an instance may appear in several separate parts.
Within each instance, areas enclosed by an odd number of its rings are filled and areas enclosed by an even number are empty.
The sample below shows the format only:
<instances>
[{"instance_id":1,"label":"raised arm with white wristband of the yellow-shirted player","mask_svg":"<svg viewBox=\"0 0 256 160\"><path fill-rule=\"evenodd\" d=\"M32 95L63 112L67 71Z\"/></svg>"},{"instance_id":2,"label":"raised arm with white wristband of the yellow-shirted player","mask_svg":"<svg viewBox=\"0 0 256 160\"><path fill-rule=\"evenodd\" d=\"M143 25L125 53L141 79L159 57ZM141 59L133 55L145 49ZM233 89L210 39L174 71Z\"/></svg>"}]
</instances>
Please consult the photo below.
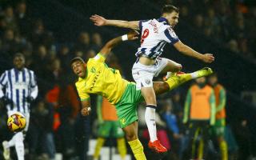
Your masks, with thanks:
<instances>
[{"instance_id":1,"label":"raised arm with white wristband of the yellow-shirted player","mask_svg":"<svg viewBox=\"0 0 256 160\"><path fill-rule=\"evenodd\" d=\"M135 39L138 39L138 32L135 30L132 30L128 34L119 36L117 38L113 38L109 42L106 42L106 45L102 47L102 50L100 51L100 53L106 57L107 54L109 54L110 51L114 48L114 46L118 45L118 43L126 40L135 40Z\"/></svg>"}]
</instances>

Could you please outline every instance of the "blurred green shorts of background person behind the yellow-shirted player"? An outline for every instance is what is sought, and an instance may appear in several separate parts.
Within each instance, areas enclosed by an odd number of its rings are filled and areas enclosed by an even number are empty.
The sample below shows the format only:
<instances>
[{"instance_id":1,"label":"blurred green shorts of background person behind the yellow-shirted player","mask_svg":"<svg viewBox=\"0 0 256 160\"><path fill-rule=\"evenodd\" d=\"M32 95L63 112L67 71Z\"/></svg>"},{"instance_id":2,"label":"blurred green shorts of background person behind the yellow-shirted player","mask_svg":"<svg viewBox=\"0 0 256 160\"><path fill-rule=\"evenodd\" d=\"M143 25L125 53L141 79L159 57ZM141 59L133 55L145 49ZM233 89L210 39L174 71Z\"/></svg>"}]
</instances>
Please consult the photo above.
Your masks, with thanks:
<instances>
[{"instance_id":1,"label":"blurred green shorts of background person behind the yellow-shirted player","mask_svg":"<svg viewBox=\"0 0 256 160\"><path fill-rule=\"evenodd\" d=\"M104 121L98 128L98 137L122 138L124 133L119 127L118 121Z\"/></svg>"}]
</instances>

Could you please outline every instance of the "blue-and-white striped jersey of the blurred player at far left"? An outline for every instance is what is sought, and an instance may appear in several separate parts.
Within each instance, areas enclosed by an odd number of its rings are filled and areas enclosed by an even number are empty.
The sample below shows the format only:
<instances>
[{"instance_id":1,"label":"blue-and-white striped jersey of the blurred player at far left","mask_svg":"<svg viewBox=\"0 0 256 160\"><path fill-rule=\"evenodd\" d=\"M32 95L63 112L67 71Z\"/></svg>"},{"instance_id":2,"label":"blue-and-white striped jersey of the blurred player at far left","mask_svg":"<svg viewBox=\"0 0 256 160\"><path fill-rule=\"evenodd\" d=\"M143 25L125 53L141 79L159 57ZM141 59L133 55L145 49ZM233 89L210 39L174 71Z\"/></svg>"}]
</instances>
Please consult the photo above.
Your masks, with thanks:
<instances>
[{"instance_id":1,"label":"blue-and-white striped jersey of the blurred player at far left","mask_svg":"<svg viewBox=\"0 0 256 160\"><path fill-rule=\"evenodd\" d=\"M30 103L26 99L28 97L35 99L38 96L34 71L26 68L6 70L0 77L0 98L3 96L12 101L12 103L6 105L8 111L19 111L22 114L29 113Z\"/></svg>"}]
</instances>

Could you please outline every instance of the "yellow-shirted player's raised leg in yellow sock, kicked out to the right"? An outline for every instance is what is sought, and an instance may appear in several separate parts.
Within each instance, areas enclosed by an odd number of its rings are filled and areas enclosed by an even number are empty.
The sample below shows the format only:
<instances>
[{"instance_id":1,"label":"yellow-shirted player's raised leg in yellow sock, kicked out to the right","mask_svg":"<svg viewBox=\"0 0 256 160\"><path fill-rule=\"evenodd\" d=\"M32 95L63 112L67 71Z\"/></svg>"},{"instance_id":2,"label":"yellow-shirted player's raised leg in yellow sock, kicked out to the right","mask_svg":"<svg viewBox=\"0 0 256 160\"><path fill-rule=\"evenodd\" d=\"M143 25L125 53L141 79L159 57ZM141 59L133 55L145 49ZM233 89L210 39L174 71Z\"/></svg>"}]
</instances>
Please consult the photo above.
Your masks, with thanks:
<instances>
[{"instance_id":1,"label":"yellow-shirted player's raised leg in yellow sock, kicked out to the right","mask_svg":"<svg viewBox=\"0 0 256 160\"><path fill-rule=\"evenodd\" d=\"M194 78L204 77L212 73L213 71L210 68L206 67L189 74L172 75L165 82L154 82L154 92L157 95L163 94L169 90L173 90L174 88L182 85L182 83L184 82L188 82Z\"/></svg>"}]
</instances>

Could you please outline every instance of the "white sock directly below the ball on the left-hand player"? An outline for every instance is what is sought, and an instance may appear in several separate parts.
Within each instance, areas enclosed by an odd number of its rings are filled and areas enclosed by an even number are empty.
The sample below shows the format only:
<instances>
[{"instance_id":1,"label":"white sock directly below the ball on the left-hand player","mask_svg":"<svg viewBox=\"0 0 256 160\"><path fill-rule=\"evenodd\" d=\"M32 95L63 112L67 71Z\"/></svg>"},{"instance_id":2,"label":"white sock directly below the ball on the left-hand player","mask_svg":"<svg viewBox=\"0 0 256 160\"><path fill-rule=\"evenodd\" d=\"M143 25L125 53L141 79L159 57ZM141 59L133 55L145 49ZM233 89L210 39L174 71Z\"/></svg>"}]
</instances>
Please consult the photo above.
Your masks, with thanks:
<instances>
[{"instance_id":1,"label":"white sock directly below the ball on the left-hand player","mask_svg":"<svg viewBox=\"0 0 256 160\"><path fill-rule=\"evenodd\" d=\"M24 160L24 143L23 143L23 134L18 132L15 134L15 150L17 153L18 160Z\"/></svg>"}]
</instances>

